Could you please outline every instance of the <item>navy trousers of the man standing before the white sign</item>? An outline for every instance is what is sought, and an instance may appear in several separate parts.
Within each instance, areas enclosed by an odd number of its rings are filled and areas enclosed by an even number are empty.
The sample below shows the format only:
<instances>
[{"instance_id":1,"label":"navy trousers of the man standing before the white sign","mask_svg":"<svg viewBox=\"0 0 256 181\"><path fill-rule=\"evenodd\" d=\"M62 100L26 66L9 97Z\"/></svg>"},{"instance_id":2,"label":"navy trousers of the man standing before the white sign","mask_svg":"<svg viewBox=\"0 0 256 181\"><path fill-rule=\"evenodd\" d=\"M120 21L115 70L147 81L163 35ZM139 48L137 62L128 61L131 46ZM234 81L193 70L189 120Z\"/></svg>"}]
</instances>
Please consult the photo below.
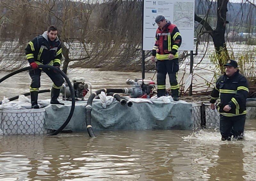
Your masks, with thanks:
<instances>
[{"instance_id":1,"label":"navy trousers of the man standing before the white sign","mask_svg":"<svg viewBox=\"0 0 256 181\"><path fill-rule=\"evenodd\" d=\"M179 59L164 60L156 62L157 69L157 97L165 96L165 80L166 74L169 75L172 97L179 97L179 84L177 74L179 71Z\"/></svg>"}]
</instances>

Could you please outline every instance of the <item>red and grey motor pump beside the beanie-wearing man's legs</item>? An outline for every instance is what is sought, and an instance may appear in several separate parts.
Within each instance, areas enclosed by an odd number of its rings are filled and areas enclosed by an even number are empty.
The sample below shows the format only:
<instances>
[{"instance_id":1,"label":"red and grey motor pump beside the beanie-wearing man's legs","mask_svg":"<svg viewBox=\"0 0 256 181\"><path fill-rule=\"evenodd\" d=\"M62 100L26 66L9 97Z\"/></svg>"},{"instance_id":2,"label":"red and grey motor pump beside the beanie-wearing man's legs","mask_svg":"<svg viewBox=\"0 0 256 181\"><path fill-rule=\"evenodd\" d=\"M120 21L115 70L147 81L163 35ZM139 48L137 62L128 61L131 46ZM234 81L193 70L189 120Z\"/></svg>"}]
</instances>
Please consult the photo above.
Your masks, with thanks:
<instances>
[{"instance_id":1,"label":"red and grey motor pump beside the beanie-wearing man's legs","mask_svg":"<svg viewBox=\"0 0 256 181\"><path fill-rule=\"evenodd\" d=\"M155 82L146 79L127 79L126 84L132 85L130 88L131 98L151 98Z\"/></svg>"}]
</instances>

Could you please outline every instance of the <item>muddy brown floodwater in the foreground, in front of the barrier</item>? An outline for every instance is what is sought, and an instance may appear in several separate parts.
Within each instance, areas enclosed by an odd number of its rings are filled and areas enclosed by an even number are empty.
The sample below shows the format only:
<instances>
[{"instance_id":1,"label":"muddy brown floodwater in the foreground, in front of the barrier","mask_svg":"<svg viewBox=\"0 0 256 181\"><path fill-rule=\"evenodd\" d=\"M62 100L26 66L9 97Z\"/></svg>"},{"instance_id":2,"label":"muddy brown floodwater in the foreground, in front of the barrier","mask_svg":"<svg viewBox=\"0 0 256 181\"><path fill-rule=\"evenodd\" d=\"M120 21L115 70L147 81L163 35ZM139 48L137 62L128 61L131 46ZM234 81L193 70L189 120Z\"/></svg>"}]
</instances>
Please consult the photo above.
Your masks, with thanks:
<instances>
[{"instance_id":1,"label":"muddy brown floodwater in the foreground, in front of the barrier","mask_svg":"<svg viewBox=\"0 0 256 181\"><path fill-rule=\"evenodd\" d=\"M245 141L214 130L0 137L0 180L254 180L256 120Z\"/></svg>"}]
</instances>

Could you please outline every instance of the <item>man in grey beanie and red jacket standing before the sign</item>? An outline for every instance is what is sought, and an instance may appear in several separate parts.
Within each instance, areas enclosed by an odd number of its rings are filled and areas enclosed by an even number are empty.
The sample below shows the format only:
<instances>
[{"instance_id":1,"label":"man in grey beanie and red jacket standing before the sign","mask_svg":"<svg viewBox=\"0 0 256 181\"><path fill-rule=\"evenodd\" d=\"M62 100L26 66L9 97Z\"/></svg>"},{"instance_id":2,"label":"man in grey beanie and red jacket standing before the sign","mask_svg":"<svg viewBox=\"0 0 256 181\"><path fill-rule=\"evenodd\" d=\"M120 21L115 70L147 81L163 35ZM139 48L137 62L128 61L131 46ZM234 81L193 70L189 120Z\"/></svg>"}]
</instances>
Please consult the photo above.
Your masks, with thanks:
<instances>
[{"instance_id":1,"label":"man in grey beanie and red jacket standing before the sign","mask_svg":"<svg viewBox=\"0 0 256 181\"><path fill-rule=\"evenodd\" d=\"M152 50L151 60L155 62L157 69L157 97L165 96L166 73L169 75L174 101L179 100L179 83L177 75L179 70L178 48L181 45L181 35L176 25L171 24L163 15L157 15L155 22L158 25L156 30L156 42Z\"/></svg>"}]
</instances>

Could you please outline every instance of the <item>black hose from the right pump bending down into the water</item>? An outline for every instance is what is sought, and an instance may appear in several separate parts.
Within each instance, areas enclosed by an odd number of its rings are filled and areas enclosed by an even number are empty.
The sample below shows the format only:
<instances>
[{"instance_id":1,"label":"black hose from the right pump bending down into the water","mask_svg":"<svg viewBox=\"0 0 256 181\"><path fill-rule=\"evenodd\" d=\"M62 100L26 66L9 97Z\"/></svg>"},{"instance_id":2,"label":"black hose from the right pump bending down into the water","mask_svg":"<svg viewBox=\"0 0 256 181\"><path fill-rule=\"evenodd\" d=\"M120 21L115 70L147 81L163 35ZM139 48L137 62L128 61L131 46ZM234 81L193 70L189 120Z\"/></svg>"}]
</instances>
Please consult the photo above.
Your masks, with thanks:
<instances>
[{"instance_id":1,"label":"black hose from the right pump bending down into the water","mask_svg":"<svg viewBox=\"0 0 256 181\"><path fill-rule=\"evenodd\" d=\"M87 105L85 106L86 109L86 128L89 136L91 138L96 137L92 130L92 123L91 123L91 112L92 112L92 100L100 94L100 92L103 91L105 93L113 92L113 93L124 93L127 94L129 92L128 88L124 89L100 89L95 92L93 92L90 97L88 98Z\"/></svg>"}]
</instances>

